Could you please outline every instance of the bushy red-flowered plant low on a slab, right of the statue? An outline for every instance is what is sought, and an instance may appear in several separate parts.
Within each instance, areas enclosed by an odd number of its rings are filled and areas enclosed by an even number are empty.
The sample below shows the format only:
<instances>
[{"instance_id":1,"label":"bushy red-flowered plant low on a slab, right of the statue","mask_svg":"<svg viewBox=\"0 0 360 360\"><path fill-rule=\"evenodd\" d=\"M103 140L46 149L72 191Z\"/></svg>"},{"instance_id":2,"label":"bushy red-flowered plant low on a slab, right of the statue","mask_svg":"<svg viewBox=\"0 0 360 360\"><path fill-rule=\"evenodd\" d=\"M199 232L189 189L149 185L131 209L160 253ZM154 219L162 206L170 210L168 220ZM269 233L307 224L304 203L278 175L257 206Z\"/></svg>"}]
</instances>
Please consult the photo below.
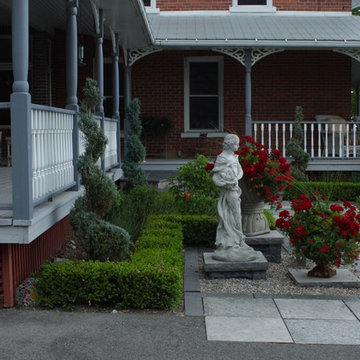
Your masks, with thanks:
<instances>
[{"instance_id":1,"label":"bushy red-flowered plant low on a slab, right of the statue","mask_svg":"<svg viewBox=\"0 0 360 360\"><path fill-rule=\"evenodd\" d=\"M348 201L343 206L329 205L301 194L291 201L291 207L294 214L281 211L276 226L289 236L298 254L315 262L308 276L334 276L333 267L358 258L360 214Z\"/></svg>"}]
</instances>

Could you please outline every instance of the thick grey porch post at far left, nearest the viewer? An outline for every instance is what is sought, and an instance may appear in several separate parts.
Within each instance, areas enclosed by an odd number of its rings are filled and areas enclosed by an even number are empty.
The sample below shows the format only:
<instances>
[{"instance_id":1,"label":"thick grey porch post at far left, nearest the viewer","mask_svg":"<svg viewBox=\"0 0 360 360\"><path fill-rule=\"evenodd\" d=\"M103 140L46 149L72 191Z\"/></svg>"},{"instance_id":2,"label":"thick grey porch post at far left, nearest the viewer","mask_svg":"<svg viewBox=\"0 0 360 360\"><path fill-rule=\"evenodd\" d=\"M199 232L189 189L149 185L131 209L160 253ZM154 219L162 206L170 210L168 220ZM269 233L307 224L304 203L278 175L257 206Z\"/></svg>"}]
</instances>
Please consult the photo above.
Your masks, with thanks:
<instances>
[{"instance_id":1,"label":"thick grey porch post at far left, nearest the viewer","mask_svg":"<svg viewBox=\"0 0 360 360\"><path fill-rule=\"evenodd\" d=\"M12 1L11 102L13 218L33 217L31 95L29 94L29 0Z\"/></svg>"}]
</instances>

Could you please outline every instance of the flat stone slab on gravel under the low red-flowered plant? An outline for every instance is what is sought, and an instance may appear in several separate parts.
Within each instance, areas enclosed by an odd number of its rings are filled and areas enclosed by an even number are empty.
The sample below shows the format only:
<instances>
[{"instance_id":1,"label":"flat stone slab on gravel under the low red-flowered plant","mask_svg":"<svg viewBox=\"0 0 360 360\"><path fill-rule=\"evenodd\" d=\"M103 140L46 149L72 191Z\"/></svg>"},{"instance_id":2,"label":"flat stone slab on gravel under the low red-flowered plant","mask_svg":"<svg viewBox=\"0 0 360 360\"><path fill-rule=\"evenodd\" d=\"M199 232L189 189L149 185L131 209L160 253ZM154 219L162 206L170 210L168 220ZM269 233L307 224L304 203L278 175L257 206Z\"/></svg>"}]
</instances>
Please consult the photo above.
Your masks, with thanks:
<instances>
[{"instance_id":1,"label":"flat stone slab on gravel under the low red-flowered plant","mask_svg":"<svg viewBox=\"0 0 360 360\"><path fill-rule=\"evenodd\" d=\"M347 269L336 269L336 275L324 279L307 276L309 270L288 269L290 277L298 286L335 286L335 287L360 287L360 281L351 271Z\"/></svg>"}]
</instances>

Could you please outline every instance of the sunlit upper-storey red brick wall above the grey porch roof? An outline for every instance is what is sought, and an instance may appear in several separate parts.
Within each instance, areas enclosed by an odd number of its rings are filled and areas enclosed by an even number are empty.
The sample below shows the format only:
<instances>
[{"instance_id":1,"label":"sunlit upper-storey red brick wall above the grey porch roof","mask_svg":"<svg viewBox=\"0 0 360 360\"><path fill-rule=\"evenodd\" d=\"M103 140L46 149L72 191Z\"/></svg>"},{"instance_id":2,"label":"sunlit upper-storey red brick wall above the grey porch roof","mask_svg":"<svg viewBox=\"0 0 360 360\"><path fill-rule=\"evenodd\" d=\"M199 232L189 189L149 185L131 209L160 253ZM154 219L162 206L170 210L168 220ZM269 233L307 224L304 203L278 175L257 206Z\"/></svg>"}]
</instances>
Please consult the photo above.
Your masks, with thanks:
<instances>
[{"instance_id":1,"label":"sunlit upper-storey red brick wall above the grey porch roof","mask_svg":"<svg viewBox=\"0 0 360 360\"><path fill-rule=\"evenodd\" d=\"M351 0L273 0L278 10L287 11L350 11ZM157 0L164 11L228 10L232 0Z\"/></svg>"}]
</instances>

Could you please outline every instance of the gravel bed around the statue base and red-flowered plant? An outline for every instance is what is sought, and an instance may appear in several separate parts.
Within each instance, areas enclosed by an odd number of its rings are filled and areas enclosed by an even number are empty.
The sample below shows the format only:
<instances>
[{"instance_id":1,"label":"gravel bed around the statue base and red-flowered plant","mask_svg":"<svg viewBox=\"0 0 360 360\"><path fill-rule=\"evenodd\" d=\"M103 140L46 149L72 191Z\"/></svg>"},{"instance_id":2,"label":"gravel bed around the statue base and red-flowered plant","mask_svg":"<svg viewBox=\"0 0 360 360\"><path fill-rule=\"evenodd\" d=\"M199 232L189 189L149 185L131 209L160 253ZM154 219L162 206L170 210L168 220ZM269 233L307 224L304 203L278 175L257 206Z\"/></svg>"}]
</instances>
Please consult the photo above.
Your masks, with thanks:
<instances>
[{"instance_id":1,"label":"gravel bed around the statue base and red-flowered plant","mask_svg":"<svg viewBox=\"0 0 360 360\"><path fill-rule=\"evenodd\" d=\"M208 279L203 270L204 251L199 250L199 278L202 293L226 293L226 294L267 294L267 295L324 295L324 296L360 296L360 288L338 287L300 287L296 286L288 275L287 269L293 264L293 257L283 248L281 264L269 263L267 280L248 279ZM212 250L210 250L212 251ZM291 265L291 266L290 266ZM313 264L306 266L311 269ZM358 278L359 267L346 266Z\"/></svg>"}]
</instances>

